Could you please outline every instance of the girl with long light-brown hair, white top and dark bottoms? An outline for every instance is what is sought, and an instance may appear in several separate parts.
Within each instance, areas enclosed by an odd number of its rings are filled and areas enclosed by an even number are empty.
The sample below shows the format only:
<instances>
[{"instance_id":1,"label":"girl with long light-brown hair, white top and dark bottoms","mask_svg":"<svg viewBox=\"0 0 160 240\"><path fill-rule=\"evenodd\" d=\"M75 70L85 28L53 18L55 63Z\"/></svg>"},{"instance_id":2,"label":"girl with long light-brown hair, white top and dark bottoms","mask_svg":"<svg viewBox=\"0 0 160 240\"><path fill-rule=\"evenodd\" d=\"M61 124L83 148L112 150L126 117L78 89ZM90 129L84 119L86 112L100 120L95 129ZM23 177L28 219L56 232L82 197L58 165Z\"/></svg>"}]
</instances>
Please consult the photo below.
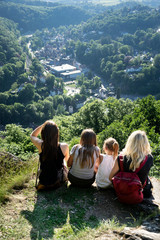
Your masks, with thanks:
<instances>
[{"instance_id":1,"label":"girl with long light-brown hair, white top and dark bottoms","mask_svg":"<svg viewBox=\"0 0 160 240\"><path fill-rule=\"evenodd\" d=\"M99 157L96 134L92 129L82 131L80 144L74 145L67 166L71 167L68 179L72 185L89 187L95 181L95 162Z\"/></svg>"}]
</instances>

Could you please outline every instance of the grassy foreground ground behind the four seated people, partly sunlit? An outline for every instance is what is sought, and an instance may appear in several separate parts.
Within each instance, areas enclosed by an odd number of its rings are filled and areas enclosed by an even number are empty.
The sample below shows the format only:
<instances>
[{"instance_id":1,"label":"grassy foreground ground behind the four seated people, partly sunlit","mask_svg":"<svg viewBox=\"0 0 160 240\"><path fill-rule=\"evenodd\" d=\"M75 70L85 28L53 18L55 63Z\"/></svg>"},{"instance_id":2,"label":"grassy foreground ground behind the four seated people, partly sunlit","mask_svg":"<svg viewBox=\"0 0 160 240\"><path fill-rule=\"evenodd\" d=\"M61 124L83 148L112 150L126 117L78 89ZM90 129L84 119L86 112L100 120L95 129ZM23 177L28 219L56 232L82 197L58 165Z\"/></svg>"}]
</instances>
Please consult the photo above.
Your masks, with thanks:
<instances>
[{"instance_id":1,"label":"grassy foreground ground behind the four seated people, partly sunlit","mask_svg":"<svg viewBox=\"0 0 160 240\"><path fill-rule=\"evenodd\" d=\"M109 209L105 209L110 201L105 197L110 194L108 191L98 192L95 187L78 189L68 184L54 191L36 192L34 183L32 178L26 188L13 189L9 201L0 207L0 239L88 240L104 233L118 239L115 232L125 226L137 227L144 219L149 221L157 214L152 212L146 216L111 198L113 214L108 215ZM106 211L104 219L96 214L100 210L98 206ZM120 216L124 212L125 215Z\"/></svg>"}]
</instances>

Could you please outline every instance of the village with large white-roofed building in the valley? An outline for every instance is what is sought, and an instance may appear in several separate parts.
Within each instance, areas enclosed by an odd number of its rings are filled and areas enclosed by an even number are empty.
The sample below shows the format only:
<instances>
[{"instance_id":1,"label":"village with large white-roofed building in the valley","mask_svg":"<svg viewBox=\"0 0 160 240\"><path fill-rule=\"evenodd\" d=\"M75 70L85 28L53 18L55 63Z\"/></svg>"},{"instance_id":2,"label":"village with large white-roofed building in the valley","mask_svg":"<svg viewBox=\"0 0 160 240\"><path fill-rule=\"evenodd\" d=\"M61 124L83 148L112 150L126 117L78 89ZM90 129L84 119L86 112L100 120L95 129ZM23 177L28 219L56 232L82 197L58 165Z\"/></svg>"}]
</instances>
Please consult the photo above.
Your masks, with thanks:
<instances>
[{"instance_id":1,"label":"village with large white-roofed building in the valley","mask_svg":"<svg viewBox=\"0 0 160 240\"><path fill-rule=\"evenodd\" d=\"M82 75L86 76L90 72L90 69L77 62L75 54L66 55L64 46L68 39L66 39L63 34L57 34L54 38L49 37L49 35L45 35L42 37L44 47L33 51L31 44L32 35L28 35L27 37L29 38L29 43L27 46L31 57L37 58L44 67L43 74L39 76L41 83L45 85L47 73L51 73L63 80L65 94L67 96L80 94L81 89L77 86L77 78ZM28 66L29 65L30 64L28 64ZM26 71L29 71L29 67ZM116 97L115 89L112 84L105 84L104 86L103 79L96 76L94 73L92 73L92 76L101 82L100 86L97 89L88 88L87 92L89 93L89 97L87 97L85 100L78 100L76 102L76 109L74 109L73 106L69 106L67 110L70 114L81 108L87 101L91 101L92 99L106 99L110 96ZM21 86L21 88L22 87L23 86ZM50 89L50 96L62 94L63 91L58 87L53 87L53 89ZM66 106L64 107L66 108Z\"/></svg>"}]
</instances>

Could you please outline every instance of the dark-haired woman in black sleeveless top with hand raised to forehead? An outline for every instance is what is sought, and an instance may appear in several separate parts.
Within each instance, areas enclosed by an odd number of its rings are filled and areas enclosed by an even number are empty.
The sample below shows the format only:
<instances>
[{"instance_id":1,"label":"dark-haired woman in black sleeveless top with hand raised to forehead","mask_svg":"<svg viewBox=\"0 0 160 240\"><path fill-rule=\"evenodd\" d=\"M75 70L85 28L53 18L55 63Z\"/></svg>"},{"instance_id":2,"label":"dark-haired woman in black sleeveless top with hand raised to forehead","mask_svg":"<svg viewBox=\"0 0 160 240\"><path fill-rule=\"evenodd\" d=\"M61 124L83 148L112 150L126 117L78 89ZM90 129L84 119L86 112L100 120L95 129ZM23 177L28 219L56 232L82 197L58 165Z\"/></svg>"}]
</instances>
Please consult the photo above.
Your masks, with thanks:
<instances>
[{"instance_id":1,"label":"dark-haired woman in black sleeveless top with hand raised to forehead","mask_svg":"<svg viewBox=\"0 0 160 240\"><path fill-rule=\"evenodd\" d=\"M39 134L41 139L38 138ZM37 190L59 187L60 182L65 180L64 160L68 160L69 147L66 143L59 142L58 126L51 120L46 121L31 133L31 141L39 151L40 174Z\"/></svg>"}]
</instances>

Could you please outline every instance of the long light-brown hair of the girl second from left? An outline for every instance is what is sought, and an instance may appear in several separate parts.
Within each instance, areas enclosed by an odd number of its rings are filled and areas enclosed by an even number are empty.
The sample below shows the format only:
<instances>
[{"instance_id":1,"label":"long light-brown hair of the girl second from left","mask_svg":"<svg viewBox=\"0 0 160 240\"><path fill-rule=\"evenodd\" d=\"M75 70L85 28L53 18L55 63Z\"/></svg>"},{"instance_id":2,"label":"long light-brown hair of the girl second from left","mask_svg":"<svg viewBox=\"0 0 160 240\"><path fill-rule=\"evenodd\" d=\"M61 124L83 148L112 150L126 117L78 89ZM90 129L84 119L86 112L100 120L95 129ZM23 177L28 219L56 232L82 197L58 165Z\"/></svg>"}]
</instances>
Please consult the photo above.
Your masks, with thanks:
<instances>
[{"instance_id":1,"label":"long light-brown hair of the girl second from left","mask_svg":"<svg viewBox=\"0 0 160 240\"><path fill-rule=\"evenodd\" d=\"M92 168L94 165L94 152L97 154L95 148L95 146L97 146L97 139L92 129L82 131L80 145L77 159L79 158L81 168L85 166Z\"/></svg>"}]
</instances>

